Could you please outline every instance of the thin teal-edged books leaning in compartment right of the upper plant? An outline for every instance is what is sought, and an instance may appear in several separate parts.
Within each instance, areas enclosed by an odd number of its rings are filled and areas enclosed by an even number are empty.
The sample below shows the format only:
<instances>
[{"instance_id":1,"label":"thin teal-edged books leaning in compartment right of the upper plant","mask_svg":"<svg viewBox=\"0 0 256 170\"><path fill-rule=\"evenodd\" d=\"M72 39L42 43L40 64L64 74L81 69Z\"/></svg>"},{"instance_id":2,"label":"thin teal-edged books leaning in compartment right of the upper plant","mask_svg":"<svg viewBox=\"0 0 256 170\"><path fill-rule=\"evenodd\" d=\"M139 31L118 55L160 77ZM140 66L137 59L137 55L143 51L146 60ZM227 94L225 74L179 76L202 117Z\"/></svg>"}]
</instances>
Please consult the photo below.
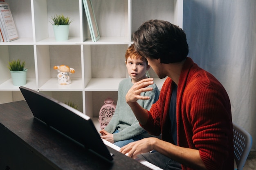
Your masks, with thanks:
<instances>
[{"instance_id":1,"label":"thin teal-edged books leaning in compartment right of the upper plant","mask_svg":"<svg viewBox=\"0 0 256 170\"><path fill-rule=\"evenodd\" d=\"M94 15L93 7L92 7L92 1L91 0L83 0L83 6L85 9L85 15L88 21L88 26L90 29L90 34L93 42L96 42L99 40L99 29L97 26L96 18Z\"/></svg>"}]
</instances>

